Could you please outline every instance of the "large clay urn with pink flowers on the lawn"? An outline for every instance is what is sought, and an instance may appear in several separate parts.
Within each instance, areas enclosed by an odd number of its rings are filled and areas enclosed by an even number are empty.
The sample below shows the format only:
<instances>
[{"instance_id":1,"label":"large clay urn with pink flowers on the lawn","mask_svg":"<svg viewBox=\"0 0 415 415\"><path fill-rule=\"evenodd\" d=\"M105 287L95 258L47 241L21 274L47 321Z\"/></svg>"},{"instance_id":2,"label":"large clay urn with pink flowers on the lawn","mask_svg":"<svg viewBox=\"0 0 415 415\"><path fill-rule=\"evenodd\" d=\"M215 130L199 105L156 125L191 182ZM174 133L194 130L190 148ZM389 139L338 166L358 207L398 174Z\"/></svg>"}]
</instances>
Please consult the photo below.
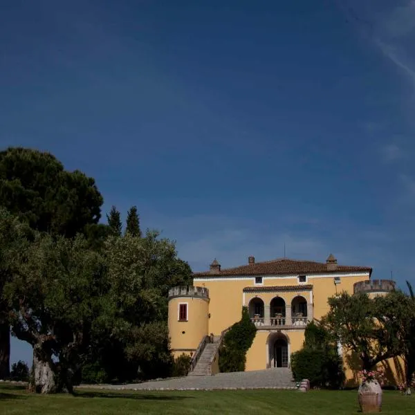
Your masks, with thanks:
<instances>
[{"instance_id":1,"label":"large clay urn with pink flowers on the lawn","mask_svg":"<svg viewBox=\"0 0 415 415\"><path fill-rule=\"evenodd\" d=\"M382 410L382 385L385 376L380 371L362 370L359 372L360 386L358 403L361 412L380 412Z\"/></svg>"}]
</instances>

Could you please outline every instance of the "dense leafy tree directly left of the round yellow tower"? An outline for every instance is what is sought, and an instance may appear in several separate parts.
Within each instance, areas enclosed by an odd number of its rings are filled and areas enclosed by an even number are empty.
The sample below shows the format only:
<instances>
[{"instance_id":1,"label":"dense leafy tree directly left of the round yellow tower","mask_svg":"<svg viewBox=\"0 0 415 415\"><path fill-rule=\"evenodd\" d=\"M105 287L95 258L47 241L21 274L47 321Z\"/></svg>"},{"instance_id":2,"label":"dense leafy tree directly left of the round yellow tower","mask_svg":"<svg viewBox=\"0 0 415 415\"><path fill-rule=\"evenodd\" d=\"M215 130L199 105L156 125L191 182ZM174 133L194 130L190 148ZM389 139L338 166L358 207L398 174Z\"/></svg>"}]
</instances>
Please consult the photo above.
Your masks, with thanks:
<instances>
[{"instance_id":1,"label":"dense leafy tree directly left of the round yellow tower","mask_svg":"<svg viewBox=\"0 0 415 415\"><path fill-rule=\"evenodd\" d=\"M172 286L189 284L192 270L177 258L174 243L157 232L110 237L104 252L109 291L93 360L120 381L168 376L167 295Z\"/></svg>"}]
</instances>

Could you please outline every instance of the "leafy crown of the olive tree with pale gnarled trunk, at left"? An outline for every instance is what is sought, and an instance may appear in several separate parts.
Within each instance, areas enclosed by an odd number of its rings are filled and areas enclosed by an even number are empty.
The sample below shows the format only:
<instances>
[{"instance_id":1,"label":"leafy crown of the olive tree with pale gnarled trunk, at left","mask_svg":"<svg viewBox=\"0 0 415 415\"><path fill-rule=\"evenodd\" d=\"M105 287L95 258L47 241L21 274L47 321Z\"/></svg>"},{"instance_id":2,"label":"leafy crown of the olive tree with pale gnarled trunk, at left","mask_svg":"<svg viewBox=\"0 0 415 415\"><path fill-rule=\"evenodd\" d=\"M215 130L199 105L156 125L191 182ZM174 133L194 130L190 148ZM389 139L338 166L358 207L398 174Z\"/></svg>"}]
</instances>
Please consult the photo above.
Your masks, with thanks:
<instances>
[{"instance_id":1,"label":"leafy crown of the olive tree with pale gnarled trunk, at left","mask_svg":"<svg viewBox=\"0 0 415 415\"><path fill-rule=\"evenodd\" d=\"M91 333L106 288L102 257L75 239L36 234L16 253L18 272L4 286L12 332L30 343L38 360L52 363L62 387L89 353Z\"/></svg>"}]
</instances>

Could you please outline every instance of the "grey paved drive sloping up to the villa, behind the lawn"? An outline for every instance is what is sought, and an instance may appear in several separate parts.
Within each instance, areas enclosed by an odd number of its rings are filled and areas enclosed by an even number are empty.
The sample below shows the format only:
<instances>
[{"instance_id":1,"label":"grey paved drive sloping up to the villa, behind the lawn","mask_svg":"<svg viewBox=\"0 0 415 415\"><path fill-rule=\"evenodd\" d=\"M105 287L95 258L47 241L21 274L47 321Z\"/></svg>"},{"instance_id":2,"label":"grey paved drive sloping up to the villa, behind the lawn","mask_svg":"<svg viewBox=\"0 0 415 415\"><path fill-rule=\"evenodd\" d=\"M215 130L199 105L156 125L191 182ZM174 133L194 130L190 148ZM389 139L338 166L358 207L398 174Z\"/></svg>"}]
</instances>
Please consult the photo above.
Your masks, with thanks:
<instances>
[{"instance_id":1,"label":"grey paved drive sloping up to the villa, behind the lawn","mask_svg":"<svg viewBox=\"0 0 415 415\"><path fill-rule=\"evenodd\" d=\"M91 389L118 390L219 390L219 389L297 389L289 369L234 372L215 376L187 376L153 380L131 385L82 385Z\"/></svg>"}]
</instances>

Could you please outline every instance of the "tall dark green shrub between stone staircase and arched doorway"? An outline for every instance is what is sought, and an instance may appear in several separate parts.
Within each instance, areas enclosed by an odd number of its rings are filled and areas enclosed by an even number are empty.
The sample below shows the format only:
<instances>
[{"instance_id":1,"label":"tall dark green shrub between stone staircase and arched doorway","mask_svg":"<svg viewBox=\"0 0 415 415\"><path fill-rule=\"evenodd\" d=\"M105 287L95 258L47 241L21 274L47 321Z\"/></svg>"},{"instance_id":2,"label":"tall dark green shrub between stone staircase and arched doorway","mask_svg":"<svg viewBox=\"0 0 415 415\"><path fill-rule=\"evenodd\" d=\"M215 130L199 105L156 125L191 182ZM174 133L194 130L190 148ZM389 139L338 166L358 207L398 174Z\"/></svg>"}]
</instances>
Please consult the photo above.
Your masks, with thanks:
<instances>
[{"instance_id":1,"label":"tall dark green shrub between stone staircase and arched doorway","mask_svg":"<svg viewBox=\"0 0 415 415\"><path fill-rule=\"evenodd\" d=\"M242 308L242 318L225 333L219 349L219 370L221 372L244 371L246 352L257 334L255 324L250 320L248 308Z\"/></svg>"}]
</instances>

